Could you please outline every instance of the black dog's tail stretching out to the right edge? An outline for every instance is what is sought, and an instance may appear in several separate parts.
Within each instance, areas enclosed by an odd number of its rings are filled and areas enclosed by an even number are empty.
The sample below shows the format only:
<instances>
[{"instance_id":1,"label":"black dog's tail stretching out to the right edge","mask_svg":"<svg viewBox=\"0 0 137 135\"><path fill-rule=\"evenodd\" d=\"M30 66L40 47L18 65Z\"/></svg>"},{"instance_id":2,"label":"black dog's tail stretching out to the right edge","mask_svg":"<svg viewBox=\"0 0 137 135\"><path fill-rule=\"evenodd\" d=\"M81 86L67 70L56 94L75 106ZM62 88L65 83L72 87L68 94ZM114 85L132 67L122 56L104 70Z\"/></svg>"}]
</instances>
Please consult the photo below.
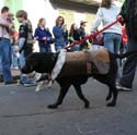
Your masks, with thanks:
<instances>
[{"instance_id":1,"label":"black dog's tail stretching out to the right edge","mask_svg":"<svg viewBox=\"0 0 137 135\"><path fill-rule=\"evenodd\" d=\"M134 50L134 51L127 51L125 53L122 53L122 54L114 54L115 58L117 59L124 59L126 57L129 57L129 56L137 56L137 50Z\"/></svg>"}]
</instances>

